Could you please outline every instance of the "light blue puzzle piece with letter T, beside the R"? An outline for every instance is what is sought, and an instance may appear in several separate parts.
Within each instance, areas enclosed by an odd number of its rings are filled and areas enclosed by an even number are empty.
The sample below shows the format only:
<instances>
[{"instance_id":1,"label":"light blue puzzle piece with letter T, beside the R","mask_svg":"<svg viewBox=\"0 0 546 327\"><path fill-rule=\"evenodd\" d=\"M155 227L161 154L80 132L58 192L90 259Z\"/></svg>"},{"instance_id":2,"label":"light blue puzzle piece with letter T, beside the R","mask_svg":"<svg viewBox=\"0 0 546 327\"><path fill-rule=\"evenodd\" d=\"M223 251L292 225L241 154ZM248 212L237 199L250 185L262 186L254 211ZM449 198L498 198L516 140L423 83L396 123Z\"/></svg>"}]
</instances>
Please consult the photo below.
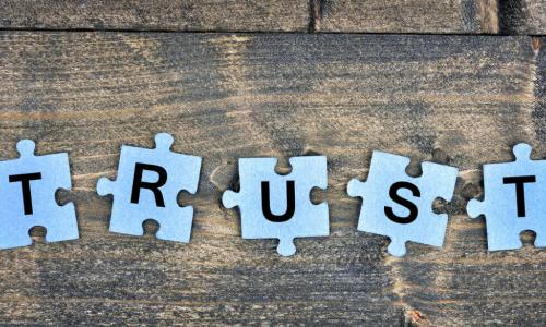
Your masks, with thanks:
<instances>
[{"instance_id":1,"label":"light blue puzzle piece with letter T, beside the R","mask_svg":"<svg viewBox=\"0 0 546 327\"><path fill-rule=\"evenodd\" d=\"M79 238L74 205L55 199L57 190L72 187L68 154L35 156L34 147L22 140L20 158L0 162L0 249L32 244L28 231L35 226L47 229L47 242Z\"/></svg>"}]
</instances>

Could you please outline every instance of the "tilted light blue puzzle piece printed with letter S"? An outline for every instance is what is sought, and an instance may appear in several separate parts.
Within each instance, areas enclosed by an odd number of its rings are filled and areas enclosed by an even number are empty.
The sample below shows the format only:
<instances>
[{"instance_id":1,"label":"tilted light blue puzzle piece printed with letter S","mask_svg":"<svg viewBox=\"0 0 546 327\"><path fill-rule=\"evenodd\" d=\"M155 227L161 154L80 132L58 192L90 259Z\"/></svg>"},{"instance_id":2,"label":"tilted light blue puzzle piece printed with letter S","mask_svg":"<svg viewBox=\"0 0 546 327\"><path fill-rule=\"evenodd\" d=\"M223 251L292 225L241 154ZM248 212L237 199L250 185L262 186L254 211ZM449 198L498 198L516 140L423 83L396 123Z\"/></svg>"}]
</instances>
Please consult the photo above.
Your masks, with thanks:
<instances>
[{"instance_id":1,"label":"tilted light blue puzzle piece printed with letter S","mask_svg":"<svg viewBox=\"0 0 546 327\"><path fill-rule=\"evenodd\" d=\"M388 251L395 256L405 255L407 241L443 244L448 215L435 214L432 202L451 199L458 175L454 167L424 162L423 175L412 178L405 173L408 164L406 157L373 152L367 181L347 185L351 196L363 198L358 230L389 237Z\"/></svg>"}]
</instances>

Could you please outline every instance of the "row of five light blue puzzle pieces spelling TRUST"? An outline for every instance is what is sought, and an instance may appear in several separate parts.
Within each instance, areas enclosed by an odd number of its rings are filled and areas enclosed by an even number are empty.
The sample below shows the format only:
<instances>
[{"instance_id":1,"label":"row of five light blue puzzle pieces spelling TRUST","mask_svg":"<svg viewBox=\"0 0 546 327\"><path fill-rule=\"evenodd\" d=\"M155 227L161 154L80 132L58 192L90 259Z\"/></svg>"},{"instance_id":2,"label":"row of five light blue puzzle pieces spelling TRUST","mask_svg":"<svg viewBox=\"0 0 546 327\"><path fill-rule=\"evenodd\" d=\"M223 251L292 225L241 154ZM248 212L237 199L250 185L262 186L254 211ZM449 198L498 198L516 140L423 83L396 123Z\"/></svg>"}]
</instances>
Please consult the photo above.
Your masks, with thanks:
<instances>
[{"instance_id":1,"label":"row of five light blue puzzle pieces spelling TRUST","mask_svg":"<svg viewBox=\"0 0 546 327\"><path fill-rule=\"evenodd\" d=\"M114 195L110 231L143 234L143 222L156 220L156 237L189 242L193 208L180 207L181 191L195 193L199 184L200 157L170 150L174 138L161 133L154 149L122 146L118 178L102 178L99 195ZM20 158L0 162L0 249L29 245L29 229L47 229L46 241L79 238L72 203L59 206L55 194L70 190L68 154L34 155L34 142L17 143ZM513 148L515 161L484 166L486 197L472 199L467 211L473 218L485 215L488 247L519 249L520 233L536 232L535 245L546 246L546 222L542 199L546 197L546 160L531 160L531 147ZM305 156L290 158L292 172L275 172L275 158L239 159L240 192L226 191L223 204L239 207L244 239L278 239L277 252L288 256L296 252L295 238L325 237L330 233L325 203L313 204L313 189L328 186L327 158ZM366 182L352 180L351 196L363 198L358 230L389 237L389 253L403 256L407 241L441 246L448 217L435 214L432 202L450 201L458 169L424 162L423 174L405 173L410 159L373 152Z\"/></svg>"}]
</instances>

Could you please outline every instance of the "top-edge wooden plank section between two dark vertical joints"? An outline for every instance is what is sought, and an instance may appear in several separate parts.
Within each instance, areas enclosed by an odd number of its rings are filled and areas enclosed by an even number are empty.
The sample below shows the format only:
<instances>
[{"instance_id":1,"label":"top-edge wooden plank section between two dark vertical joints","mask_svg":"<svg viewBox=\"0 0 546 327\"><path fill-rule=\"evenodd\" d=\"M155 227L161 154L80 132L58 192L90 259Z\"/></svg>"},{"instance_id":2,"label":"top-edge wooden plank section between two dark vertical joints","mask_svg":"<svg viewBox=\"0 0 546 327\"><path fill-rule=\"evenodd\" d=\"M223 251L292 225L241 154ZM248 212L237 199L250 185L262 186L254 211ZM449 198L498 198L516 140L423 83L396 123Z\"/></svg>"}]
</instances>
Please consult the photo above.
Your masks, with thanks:
<instances>
[{"instance_id":1,"label":"top-edge wooden plank section between two dark vertical joints","mask_svg":"<svg viewBox=\"0 0 546 327\"><path fill-rule=\"evenodd\" d=\"M498 32L495 0L316 0L316 29L358 33Z\"/></svg>"}]
</instances>

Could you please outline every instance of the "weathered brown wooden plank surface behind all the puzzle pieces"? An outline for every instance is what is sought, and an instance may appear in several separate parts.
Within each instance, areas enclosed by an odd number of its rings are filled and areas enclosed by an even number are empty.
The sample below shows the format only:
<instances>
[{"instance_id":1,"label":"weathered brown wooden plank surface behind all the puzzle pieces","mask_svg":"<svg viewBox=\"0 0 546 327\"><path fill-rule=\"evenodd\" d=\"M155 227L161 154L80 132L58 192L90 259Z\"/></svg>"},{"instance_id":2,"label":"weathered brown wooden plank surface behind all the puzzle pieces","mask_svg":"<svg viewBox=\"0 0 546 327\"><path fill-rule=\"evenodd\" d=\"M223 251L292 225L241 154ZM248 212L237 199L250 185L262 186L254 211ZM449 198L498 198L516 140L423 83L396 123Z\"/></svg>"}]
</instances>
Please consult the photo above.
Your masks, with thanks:
<instances>
[{"instance_id":1,"label":"weathered brown wooden plank surface behind all the puzzle pieces","mask_svg":"<svg viewBox=\"0 0 546 327\"><path fill-rule=\"evenodd\" d=\"M488 253L480 165L546 157L544 0L0 0L0 159L21 138L70 153L81 239L0 253L2 325L546 324L546 252ZM121 144L204 157L189 244L108 232ZM357 232L381 149L461 169L443 249ZM241 240L221 194L238 157L322 154L331 235Z\"/></svg>"}]
</instances>

